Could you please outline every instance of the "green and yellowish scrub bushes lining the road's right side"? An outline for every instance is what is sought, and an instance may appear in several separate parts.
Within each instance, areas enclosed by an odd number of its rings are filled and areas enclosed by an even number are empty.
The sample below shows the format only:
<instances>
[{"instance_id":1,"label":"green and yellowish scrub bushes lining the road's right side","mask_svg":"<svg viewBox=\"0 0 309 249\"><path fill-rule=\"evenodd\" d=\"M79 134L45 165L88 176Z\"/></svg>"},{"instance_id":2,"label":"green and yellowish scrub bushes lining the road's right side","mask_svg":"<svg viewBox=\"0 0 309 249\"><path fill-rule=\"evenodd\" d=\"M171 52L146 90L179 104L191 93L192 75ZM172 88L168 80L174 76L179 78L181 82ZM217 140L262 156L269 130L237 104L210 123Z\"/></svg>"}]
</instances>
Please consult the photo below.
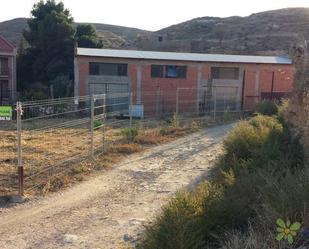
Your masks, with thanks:
<instances>
[{"instance_id":1,"label":"green and yellowish scrub bushes lining the road's right side","mask_svg":"<svg viewBox=\"0 0 309 249\"><path fill-rule=\"evenodd\" d=\"M171 199L137 247L283 249L307 245L309 172L298 139L291 137L283 121L282 108L263 102L256 111L272 116L255 113L241 121L225 138L224 154L211 180ZM290 235L285 229L279 241L279 218L286 228L293 222L301 228Z\"/></svg>"}]
</instances>

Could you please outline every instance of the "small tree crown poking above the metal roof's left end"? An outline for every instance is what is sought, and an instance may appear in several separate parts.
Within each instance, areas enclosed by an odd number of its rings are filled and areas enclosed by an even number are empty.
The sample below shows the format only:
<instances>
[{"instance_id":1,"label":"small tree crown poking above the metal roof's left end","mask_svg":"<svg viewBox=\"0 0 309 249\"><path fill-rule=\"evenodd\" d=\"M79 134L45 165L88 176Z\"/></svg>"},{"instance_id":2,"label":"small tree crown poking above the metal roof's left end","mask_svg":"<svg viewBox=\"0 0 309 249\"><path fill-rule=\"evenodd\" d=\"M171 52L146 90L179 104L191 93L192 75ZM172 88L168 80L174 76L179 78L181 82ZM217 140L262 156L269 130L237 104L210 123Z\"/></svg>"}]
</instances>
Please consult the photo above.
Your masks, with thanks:
<instances>
[{"instance_id":1,"label":"small tree crown poking above the metal roof's left end","mask_svg":"<svg viewBox=\"0 0 309 249\"><path fill-rule=\"evenodd\" d=\"M78 47L102 48L103 43L98 39L96 29L90 24L80 24L76 28L75 41Z\"/></svg>"}]
</instances>

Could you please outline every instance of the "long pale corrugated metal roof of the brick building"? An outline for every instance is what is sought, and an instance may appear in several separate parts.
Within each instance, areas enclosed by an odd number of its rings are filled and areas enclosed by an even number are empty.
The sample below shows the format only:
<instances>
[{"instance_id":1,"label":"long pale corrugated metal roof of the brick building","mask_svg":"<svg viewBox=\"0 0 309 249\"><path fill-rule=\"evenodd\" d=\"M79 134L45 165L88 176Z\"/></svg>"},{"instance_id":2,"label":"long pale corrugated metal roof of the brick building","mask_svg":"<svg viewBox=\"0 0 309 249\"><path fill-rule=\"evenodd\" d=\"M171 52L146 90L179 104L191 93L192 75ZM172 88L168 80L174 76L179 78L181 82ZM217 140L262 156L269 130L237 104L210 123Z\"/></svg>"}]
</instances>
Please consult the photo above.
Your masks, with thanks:
<instances>
[{"instance_id":1,"label":"long pale corrugated metal roof of the brick building","mask_svg":"<svg viewBox=\"0 0 309 249\"><path fill-rule=\"evenodd\" d=\"M227 55L227 54L197 54L154 52L138 50L115 50L77 48L76 55L109 58L130 58L140 60L171 60L171 61L199 61L199 62L236 62L236 63L264 63L264 64L292 64L292 60L279 56Z\"/></svg>"}]
</instances>

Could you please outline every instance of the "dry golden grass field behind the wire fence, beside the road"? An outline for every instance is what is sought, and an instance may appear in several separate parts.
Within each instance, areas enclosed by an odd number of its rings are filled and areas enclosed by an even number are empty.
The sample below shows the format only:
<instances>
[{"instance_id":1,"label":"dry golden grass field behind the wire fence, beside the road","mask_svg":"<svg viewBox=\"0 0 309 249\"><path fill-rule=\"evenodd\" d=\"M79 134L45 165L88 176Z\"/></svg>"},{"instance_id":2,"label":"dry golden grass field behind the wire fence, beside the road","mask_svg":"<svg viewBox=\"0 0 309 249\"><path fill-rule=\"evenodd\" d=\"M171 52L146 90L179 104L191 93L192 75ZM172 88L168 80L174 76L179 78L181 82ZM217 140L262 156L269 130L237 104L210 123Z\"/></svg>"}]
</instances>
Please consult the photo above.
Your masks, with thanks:
<instances>
[{"instance_id":1,"label":"dry golden grass field behind the wire fence, beside the road","mask_svg":"<svg viewBox=\"0 0 309 249\"><path fill-rule=\"evenodd\" d=\"M109 145L103 148L103 130L95 130L94 147L98 152L103 152L104 149L105 153L92 161L88 160L90 132L86 126L30 131L52 126L60 121L67 120L41 120L40 123L23 125L25 130L22 133L22 158L26 195L58 191L75 181L83 180L94 171L111 167L126 155L141 152L149 146L170 142L200 129L199 125L192 122L181 128L168 126L162 120L154 120L148 123L151 124L149 128L139 130L133 143L128 143L120 132L123 124L119 127L106 126L104 139ZM14 125L6 123L0 130L0 196L15 194L17 191Z\"/></svg>"}]
</instances>

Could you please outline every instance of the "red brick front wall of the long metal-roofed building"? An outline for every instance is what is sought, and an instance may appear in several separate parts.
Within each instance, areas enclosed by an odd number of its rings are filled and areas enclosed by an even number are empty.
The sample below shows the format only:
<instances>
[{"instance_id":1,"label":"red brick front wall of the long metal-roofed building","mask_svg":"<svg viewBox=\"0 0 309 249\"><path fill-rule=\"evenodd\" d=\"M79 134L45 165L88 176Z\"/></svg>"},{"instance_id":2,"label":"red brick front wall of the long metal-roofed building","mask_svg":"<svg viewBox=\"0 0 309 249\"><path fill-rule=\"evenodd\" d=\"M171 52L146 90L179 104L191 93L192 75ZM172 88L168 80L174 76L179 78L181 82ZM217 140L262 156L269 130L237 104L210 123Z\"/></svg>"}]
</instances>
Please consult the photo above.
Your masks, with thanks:
<instances>
[{"instance_id":1,"label":"red brick front wall of the long metal-roofed building","mask_svg":"<svg viewBox=\"0 0 309 249\"><path fill-rule=\"evenodd\" d=\"M234 66L239 67L241 72L245 70L245 92L244 107L250 109L256 101L260 99L262 92L271 91L272 72L275 72L274 92L291 92L293 86L293 66L292 65L270 65L270 64L244 64L244 63L195 63L195 62L175 62L175 61L151 61L151 60L135 60L135 59L115 59L100 57L84 57L78 58L79 65L79 94L86 93L86 77L89 73L89 62L111 62L111 63L128 63L128 76L131 82L133 92L133 101L136 103L137 91L137 66L141 65L141 101L144 104L145 112L153 113L156 111L157 94L160 92L159 108L161 111L173 111L176 109L176 91L177 88L197 88L198 87L198 67L202 68L202 79L210 78L211 66ZM187 65L186 79L170 79L170 78L151 78L151 64L162 65ZM256 74L259 72L259 84L256 85ZM242 77L239 80L239 87L242 88ZM228 81L226 84L228 86ZM182 94L182 95L181 95ZM197 107L197 91L181 90L180 91L180 111L194 111ZM241 96L241 95L240 95ZM255 96L255 97L254 97ZM182 109L181 109L182 108Z\"/></svg>"}]
</instances>

